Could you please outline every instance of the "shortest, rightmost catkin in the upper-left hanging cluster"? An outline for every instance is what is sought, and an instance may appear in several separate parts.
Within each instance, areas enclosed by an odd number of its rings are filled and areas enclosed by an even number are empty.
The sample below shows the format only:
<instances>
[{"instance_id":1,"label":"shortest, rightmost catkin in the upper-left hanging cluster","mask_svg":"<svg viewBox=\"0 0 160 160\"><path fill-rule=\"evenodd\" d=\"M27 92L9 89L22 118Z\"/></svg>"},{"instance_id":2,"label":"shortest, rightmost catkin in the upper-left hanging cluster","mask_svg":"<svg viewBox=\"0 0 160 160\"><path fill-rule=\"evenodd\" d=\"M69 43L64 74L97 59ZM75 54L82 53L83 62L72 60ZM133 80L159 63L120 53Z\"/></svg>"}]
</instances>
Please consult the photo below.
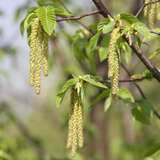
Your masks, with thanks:
<instances>
[{"instance_id":1,"label":"shortest, rightmost catkin in the upper-left hanging cluster","mask_svg":"<svg viewBox=\"0 0 160 160\"><path fill-rule=\"evenodd\" d=\"M48 34L43 34L43 72L45 76L48 76Z\"/></svg>"}]
</instances>

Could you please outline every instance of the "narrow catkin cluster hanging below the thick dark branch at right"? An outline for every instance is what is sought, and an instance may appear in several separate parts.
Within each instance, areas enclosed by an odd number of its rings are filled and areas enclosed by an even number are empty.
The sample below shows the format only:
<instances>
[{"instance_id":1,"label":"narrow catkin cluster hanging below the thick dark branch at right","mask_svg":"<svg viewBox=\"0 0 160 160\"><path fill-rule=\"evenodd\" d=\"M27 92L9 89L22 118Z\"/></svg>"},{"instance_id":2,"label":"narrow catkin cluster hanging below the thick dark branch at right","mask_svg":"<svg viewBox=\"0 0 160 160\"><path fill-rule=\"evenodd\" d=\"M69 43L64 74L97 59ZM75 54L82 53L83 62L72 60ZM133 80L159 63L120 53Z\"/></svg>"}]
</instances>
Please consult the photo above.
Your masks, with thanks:
<instances>
[{"instance_id":1,"label":"narrow catkin cluster hanging below the thick dark branch at right","mask_svg":"<svg viewBox=\"0 0 160 160\"><path fill-rule=\"evenodd\" d=\"M117 40L120 37L120 27L114 28L111 33L108 55L108 78L111 80L112 94L119 90L119 55L117 53Z\"/></svg>"}]
</instances>

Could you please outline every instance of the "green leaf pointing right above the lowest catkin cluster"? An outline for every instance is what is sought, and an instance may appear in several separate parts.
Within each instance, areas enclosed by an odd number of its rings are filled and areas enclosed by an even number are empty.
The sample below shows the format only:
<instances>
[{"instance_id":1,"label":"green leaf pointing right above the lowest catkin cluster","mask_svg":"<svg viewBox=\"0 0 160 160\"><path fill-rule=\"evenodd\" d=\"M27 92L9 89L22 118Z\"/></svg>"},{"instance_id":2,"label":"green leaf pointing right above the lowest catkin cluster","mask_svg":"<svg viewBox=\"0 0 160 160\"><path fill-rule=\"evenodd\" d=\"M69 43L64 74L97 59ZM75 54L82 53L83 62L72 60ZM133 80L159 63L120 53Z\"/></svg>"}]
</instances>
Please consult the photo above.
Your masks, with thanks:
<instances>
[{"instance_id":1,"label":"green leaf pointing right above the lowest catkin cluster","mask_svg":"<svg viewBox=\"0 0 160 160\"><path fill-rule=\"evenodd\" d=\"M98 81L96 80L96 78L93 77L93 76L91 76L91 75L84 75L84 76L82 76L82 79L83 79L84 81L86 81L86 82L94 85L94 86L97 86L97 87L100 87L100 88L107 88L106 85L104 85L104 84L101 83L101 82L98 82Z\"/></svg>"}]
</instances>

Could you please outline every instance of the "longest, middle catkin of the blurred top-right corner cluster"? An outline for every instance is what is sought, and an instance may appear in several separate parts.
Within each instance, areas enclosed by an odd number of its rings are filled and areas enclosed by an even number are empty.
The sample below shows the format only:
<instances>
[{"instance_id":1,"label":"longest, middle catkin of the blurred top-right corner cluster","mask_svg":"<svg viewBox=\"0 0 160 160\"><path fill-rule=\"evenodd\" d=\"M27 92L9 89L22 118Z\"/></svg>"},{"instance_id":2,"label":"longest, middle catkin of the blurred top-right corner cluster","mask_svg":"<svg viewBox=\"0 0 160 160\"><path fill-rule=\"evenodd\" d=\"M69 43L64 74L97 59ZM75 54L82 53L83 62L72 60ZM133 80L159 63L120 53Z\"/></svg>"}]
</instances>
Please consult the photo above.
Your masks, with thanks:
<instances>
[{"instance_id":1,"label":"longest, middle catkin of the blurred top-right corner cluster","mask_svg":"<svg viewBox=\"0 0 160 160\"><path fill-rule=\"evenodd\" d=\"M151 2L154 2L155 0L151 0ZM149 27L150 29L153 29L154 27L154 18L155 18L155 4L150 5L149 14L148 14L148 21L149 21Z\"/></svg>"}]
</instances>

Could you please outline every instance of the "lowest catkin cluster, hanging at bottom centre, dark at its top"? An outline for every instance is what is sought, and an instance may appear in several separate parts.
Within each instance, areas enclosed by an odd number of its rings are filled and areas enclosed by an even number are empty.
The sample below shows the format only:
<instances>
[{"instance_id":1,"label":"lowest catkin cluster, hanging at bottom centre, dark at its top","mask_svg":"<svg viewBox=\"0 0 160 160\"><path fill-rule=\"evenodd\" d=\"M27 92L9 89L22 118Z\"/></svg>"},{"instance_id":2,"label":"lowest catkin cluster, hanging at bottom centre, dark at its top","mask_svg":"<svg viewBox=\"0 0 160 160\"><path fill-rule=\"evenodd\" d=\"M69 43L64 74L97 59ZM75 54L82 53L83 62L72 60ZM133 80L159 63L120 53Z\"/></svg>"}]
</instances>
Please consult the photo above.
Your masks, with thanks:
<instances>
[{"instance_id":1,"label":"lowest catkin cluster, hanging at bottom centre, dark at its top","mask_svg":"<svg viewBox=\"0 0 160 160\"><path fill-rule=\"evenodd\" d=\"M71 148L71 155L74 156L78 146L83 147L83 108L81 96L77 90L72 88L71 107L69 117L69 132L67 148Z\"/></svg>"}]
</instances>

